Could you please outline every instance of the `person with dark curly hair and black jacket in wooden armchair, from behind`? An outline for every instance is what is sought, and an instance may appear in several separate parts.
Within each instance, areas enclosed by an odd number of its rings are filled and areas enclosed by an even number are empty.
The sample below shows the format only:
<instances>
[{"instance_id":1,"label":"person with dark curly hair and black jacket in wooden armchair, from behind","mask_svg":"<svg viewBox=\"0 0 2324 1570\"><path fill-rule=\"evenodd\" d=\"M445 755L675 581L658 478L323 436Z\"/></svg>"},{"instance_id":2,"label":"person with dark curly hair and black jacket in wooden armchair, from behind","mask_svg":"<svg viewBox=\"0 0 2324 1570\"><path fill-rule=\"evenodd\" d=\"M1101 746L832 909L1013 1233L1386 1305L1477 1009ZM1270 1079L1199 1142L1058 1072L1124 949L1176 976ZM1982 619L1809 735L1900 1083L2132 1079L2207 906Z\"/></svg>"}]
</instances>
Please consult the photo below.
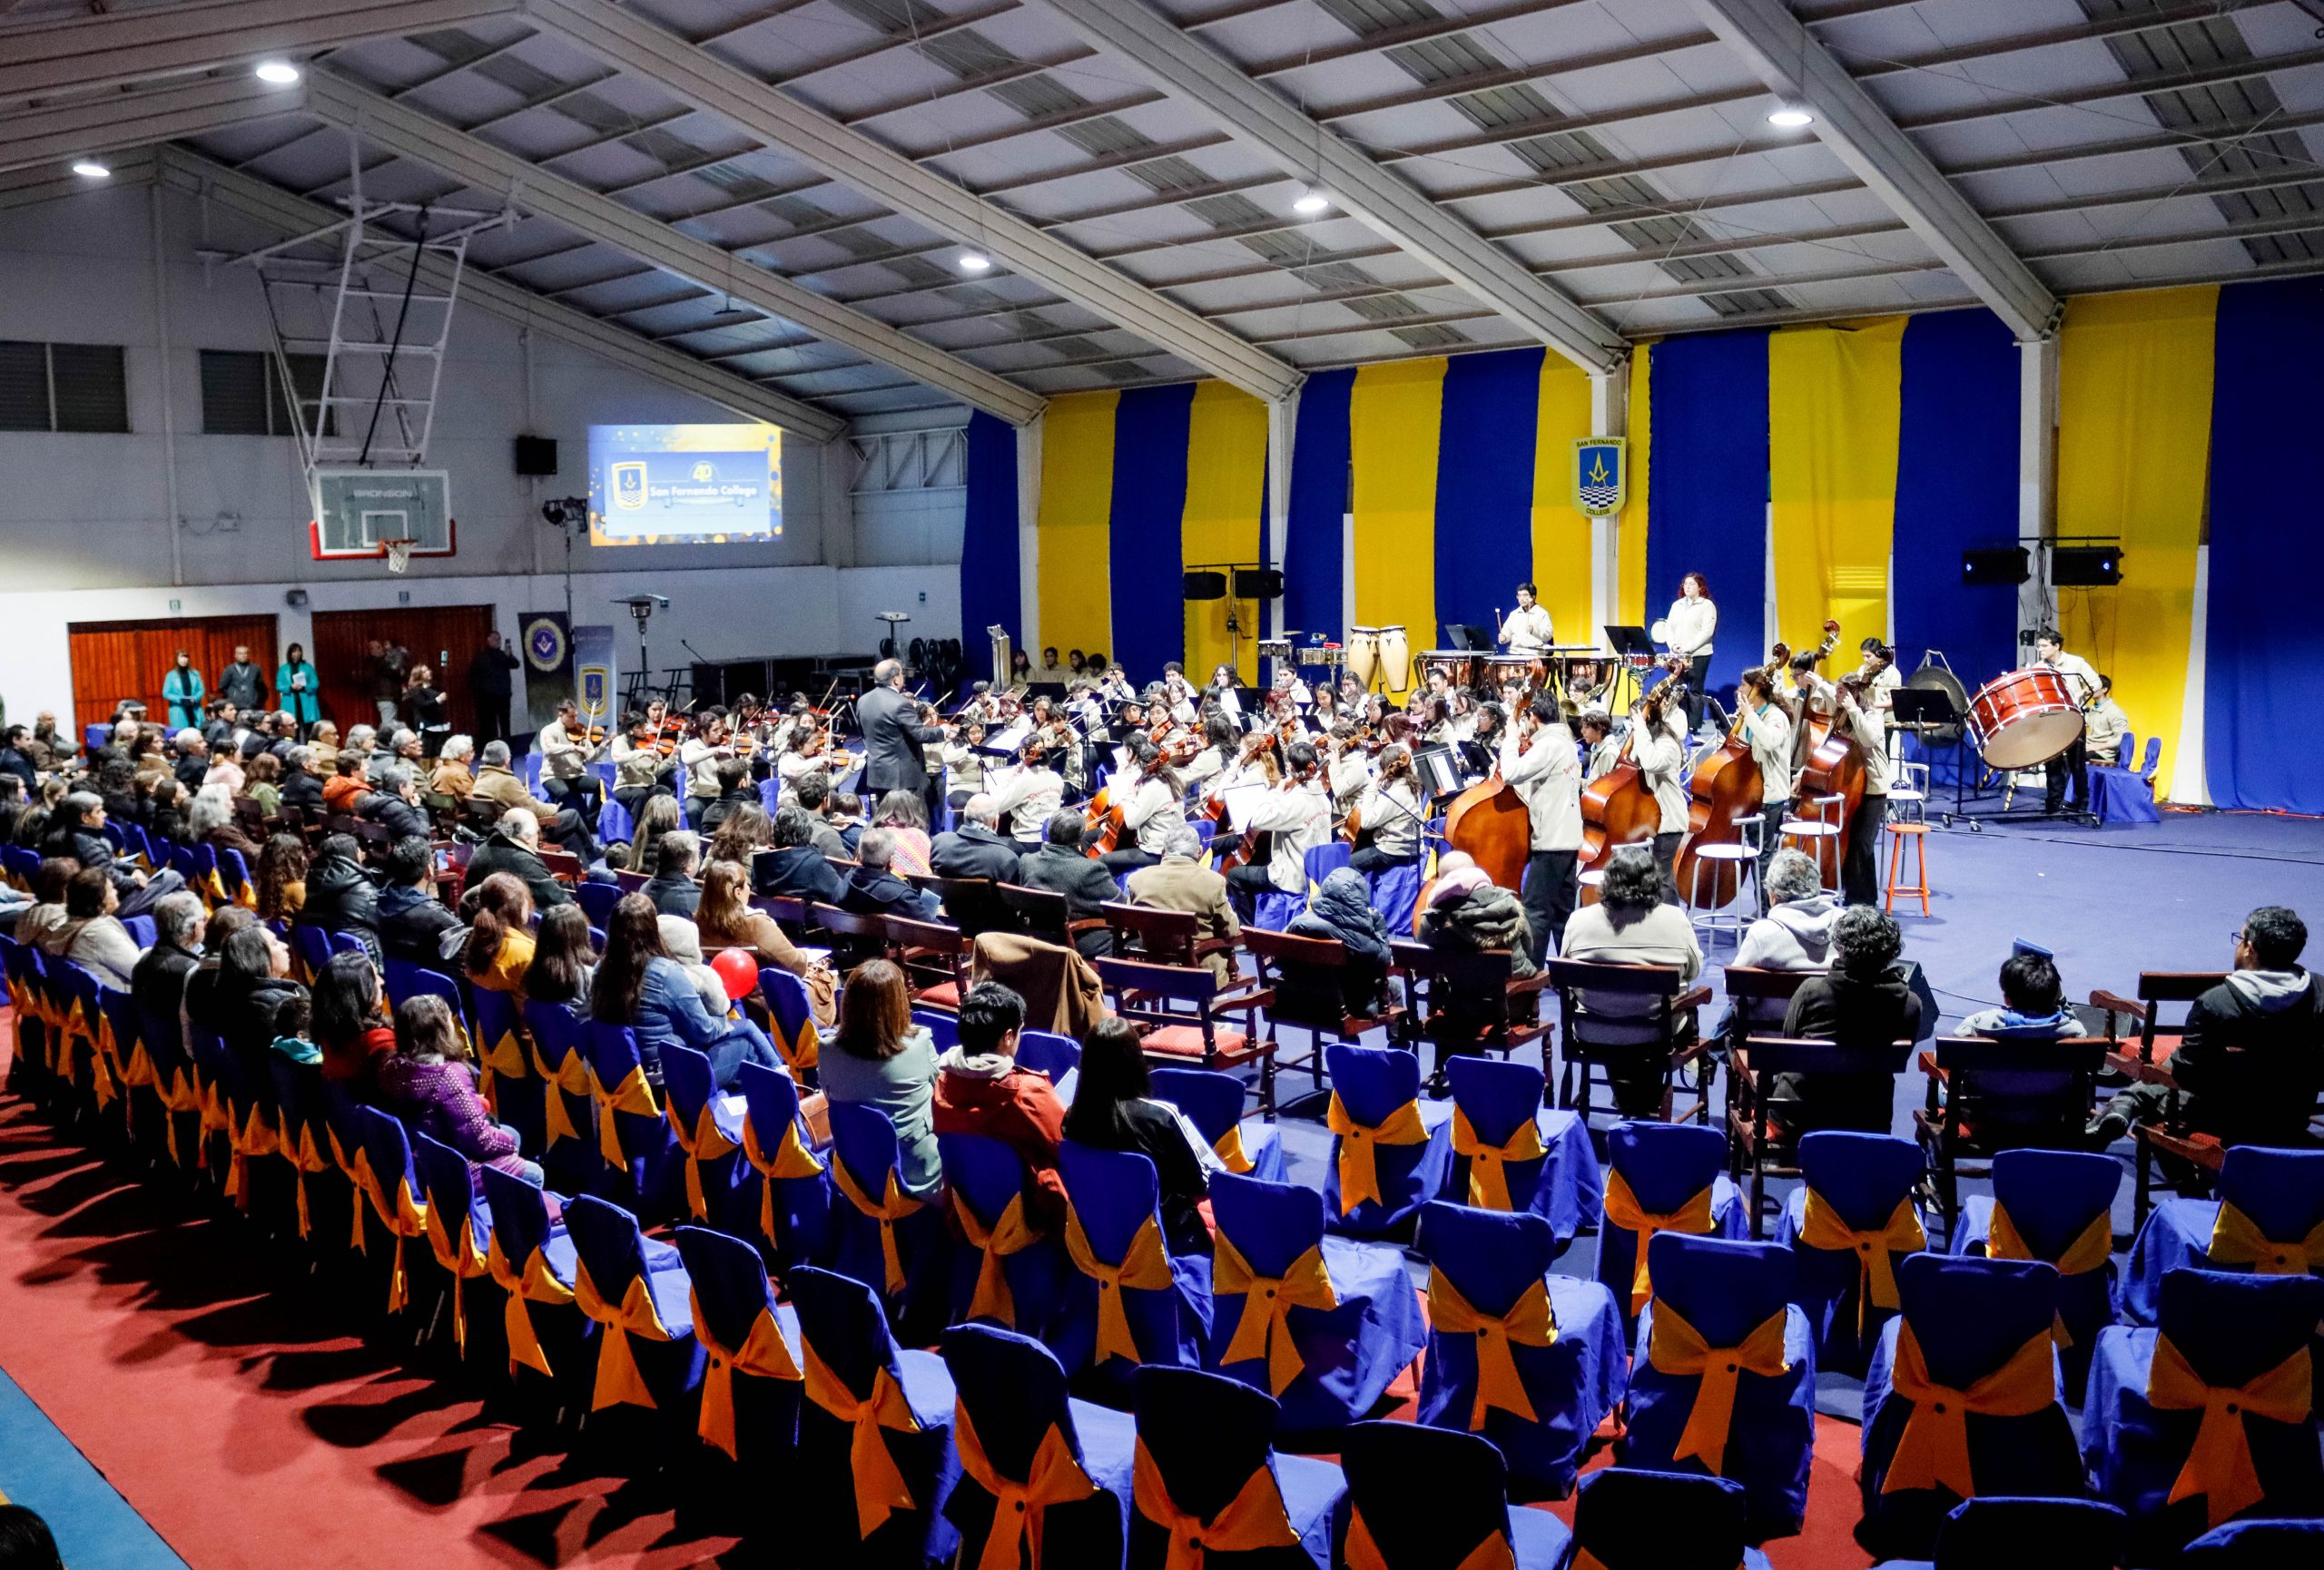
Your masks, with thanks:
<instances>
[{"instance_id":1,"label":"person with dark curly hair and black jacket in wooden armchair, from behind","mask_svg":"<svg viewBox=\"0 0 2324 1570\"><path fill-rule=\"evenodd\" d=\"M1676 906L1673 906L1676 908ZM1783 1034L1848 1047L1885 1047L1920 1038L1920 999L1896 968L1903 934L1873 906L1848 906L1831 924L1831 968L1792 994ZM1887 1133L1894 1117L1892 1073L1778 1073L1769 1117L1785 1133L1855 1129Z\"/></svg>"}]
</instances>

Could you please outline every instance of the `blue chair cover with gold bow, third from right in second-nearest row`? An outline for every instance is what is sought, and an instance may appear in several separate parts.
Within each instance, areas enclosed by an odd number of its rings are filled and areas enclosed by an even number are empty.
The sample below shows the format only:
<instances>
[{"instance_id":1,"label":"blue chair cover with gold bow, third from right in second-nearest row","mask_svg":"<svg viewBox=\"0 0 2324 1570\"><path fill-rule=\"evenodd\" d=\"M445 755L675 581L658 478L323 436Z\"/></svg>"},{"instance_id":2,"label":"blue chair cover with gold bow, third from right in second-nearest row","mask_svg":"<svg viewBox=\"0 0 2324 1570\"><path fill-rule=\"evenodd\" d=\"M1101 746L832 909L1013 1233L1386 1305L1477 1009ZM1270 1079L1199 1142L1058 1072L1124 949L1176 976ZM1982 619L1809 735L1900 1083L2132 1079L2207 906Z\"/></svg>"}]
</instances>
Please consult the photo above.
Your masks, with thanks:
<instances>
[{"instance_id":1,"label":"blue chair cover with gold bow, third from right in second-nearest row","mask_svg":"<svg viewBox=\"0 0 2324 1570\"><path fill-rule=\"evenodd\" d=\"M1629 1424L1615 1463L1655 1472L1717 1472L1743 1484L1745 1535L1752 1542L1799 1533L1808 1514L1808 1463L1815 1459L1815 1335L1792 1303L1792 1249L1655 1233L1655 1301L1638 1317L1638 1356L1629 1370ZM1783 1319L1780 1375L1741 1370L1727 1447L1706 1463L1680 1459L1680 1440L1703 1389L1699 1373L1664 1373L1650 1356L1657 1312L1676 1312L1706 1347L1738 1347L1769 1319Z\"/></svg>"}]
</instances>

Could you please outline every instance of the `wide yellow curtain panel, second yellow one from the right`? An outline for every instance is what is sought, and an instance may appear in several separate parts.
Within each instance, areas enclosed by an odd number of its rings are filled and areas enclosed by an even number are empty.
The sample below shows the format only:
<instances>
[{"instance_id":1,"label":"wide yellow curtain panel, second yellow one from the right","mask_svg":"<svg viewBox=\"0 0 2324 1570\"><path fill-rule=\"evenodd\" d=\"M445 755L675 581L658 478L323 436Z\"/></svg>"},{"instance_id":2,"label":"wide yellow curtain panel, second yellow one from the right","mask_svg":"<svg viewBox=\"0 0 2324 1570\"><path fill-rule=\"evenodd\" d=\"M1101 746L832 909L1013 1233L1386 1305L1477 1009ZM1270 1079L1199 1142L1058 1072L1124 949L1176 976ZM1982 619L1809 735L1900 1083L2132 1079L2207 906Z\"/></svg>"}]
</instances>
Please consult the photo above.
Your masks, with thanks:
<instances>
[{"instance_id":1,"label":"wide yellow curtain panel, second yellow one from the right","mask_svg":"<svg viewBox=\"0 0 2324 1570\"><path fill-rule=\"evenodd\" d=\"M1820 643L1824 618L1838 618L1843 648L1889 636L1903 321L1799 327L1769 339L1773 636L1792 648ZM1843 660L1836 669L1850 667Z\"/></svg>"}]
</instances>

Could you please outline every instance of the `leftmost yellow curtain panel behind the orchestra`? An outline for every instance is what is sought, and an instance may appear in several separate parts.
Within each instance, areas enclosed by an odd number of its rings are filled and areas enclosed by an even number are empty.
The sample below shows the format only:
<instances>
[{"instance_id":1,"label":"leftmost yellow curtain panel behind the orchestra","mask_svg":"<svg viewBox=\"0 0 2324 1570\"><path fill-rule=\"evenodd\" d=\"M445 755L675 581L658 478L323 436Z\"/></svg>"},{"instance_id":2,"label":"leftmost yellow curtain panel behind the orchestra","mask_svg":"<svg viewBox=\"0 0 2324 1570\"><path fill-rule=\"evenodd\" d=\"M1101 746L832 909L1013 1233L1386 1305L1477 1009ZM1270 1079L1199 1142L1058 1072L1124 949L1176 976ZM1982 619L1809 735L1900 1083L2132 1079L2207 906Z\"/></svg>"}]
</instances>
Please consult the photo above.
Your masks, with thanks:
<instances>
[{"instance_id":1,"label":"leftmost yellow curtain panel behind the orchestra","mask_svg":"<svg viewBox=\"0 0 2324 1570\"><path fill-rule=\"evenodd\" d=\"M1113 390L1069 392L1041 418L1041 643L1060 660L1069 648L1113 650L1116 402Z\"/></svg>"}]
</instances>

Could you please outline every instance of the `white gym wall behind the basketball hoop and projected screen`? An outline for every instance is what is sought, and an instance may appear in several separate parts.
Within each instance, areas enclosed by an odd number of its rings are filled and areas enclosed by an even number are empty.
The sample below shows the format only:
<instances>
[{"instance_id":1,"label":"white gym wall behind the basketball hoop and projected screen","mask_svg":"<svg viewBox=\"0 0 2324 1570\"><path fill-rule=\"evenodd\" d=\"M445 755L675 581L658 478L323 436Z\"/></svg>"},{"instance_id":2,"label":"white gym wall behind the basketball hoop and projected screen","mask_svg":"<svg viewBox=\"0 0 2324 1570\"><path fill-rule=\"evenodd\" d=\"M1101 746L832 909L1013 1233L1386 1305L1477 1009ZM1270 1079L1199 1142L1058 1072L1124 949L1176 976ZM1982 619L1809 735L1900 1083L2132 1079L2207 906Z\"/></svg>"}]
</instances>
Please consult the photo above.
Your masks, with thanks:
<instances>
[{"instance_id":1,"label":"white gym wall behind the basketball hoop and projected screen","mask_svg":"<svg viewBox=\"0 0 2324 1570\"><path fill-rule=\"evenodd\" d=\"M627 615L609 602L653 590L672 599L651 627L655 667L688 660L681 639L709 660L865 653L878 634L874 611L909 613L906 636L960 636L960 492L867 497L858 523L844 441L786 446L776 541L590 548L583 539L567 576L565 539L541 523L539 502L588 490L593 423L734 416L472 307L453 325L428 455L451 471L458 555L414 560L400 578L372 560L311 560L297 444L202 434L200 351L272 344L251 269L205 253L279 237L163 193L160 316L151 214L146 188L0 211L0 339L125 344L132 427L114 437L0 432L0 697L9 713L70 706L65 627L77 620L272 611L284 643L311 646L311 611L488 602L514 636L523 611L562 608L569 597L574 620L623 625L627 664ZM163 420L165 369L174 439ZM518 478L516 434L555 437L560 471ZM304 588L311 606L286 606L290 588Z\"/></svg>"}]
</instances>

